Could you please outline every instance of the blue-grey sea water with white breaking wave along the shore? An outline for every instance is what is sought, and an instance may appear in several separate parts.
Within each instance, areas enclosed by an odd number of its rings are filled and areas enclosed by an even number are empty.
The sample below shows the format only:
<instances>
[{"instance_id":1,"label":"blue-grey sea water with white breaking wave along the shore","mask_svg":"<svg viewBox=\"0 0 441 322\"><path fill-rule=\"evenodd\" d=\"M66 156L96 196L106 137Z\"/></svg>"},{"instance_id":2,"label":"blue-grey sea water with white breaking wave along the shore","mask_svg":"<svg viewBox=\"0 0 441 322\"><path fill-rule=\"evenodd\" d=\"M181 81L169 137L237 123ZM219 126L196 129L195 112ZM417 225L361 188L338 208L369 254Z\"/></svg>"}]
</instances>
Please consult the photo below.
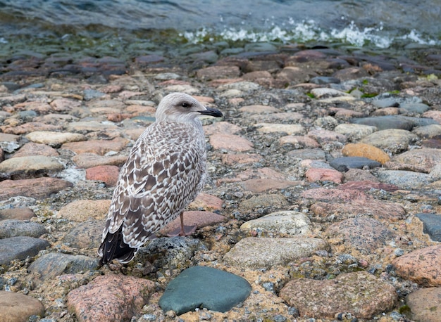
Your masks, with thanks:
<instances>
[{"instance_id":1,"label":"blue-grey sea water with white breaking wave along the shore","mask_svg":"<svg viewBox=\"0 0 441 322\"><path fill-rule=\"evenodd\" d=\"M439 47L440 22L440 0L0 0L0 53L143 41Z\"/></svg>"}]
</instances>

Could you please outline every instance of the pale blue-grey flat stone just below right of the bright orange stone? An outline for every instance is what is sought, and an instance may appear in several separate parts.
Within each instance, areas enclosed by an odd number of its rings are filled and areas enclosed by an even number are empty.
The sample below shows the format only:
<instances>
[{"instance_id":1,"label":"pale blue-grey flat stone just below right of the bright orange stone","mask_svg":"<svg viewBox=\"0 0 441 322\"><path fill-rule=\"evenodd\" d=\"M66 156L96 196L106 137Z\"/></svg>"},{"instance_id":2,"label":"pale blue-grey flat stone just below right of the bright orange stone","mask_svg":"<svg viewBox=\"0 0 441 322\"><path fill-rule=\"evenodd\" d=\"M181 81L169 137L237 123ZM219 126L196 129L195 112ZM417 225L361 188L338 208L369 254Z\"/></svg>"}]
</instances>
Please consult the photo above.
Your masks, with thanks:
<instances>
[{"instance_id":1,"label":"pale blue-grey flat stone just below right of the bright orange stone","mask_svg":"<svg viewBox=\"0 0 441 322\"><path fill-rule=\"evenodd\" d=\"M377 176L381 182L395 184L404 189L423 188L433 181L429 174L401 170L379 171Z\"/></svg>"}]
</instances>

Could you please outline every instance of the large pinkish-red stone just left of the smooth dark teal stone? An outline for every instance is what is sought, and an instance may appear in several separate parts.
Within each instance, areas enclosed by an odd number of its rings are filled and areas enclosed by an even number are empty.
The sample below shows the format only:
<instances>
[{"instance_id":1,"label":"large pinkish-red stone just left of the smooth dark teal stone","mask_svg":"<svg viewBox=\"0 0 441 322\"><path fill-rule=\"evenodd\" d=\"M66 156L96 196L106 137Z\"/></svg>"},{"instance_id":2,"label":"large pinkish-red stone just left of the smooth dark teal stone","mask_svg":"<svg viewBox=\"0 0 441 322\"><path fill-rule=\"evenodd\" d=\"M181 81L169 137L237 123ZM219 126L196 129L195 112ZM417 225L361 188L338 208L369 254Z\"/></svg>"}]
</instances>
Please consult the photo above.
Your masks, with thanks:
<instances>
[{"instance_id":1,"label":"large pinkish-red stone just left of the smooth dark teal stone","mask_svg":"<svg viewBox=\"0 0 441 322\"><path fill-rule=\"evenodd\" d=\"M152 292L154 282L145 278L109 274L71 290L67 306L81 322L129 321L141 312Z\"/></svg>"}]
</instances>

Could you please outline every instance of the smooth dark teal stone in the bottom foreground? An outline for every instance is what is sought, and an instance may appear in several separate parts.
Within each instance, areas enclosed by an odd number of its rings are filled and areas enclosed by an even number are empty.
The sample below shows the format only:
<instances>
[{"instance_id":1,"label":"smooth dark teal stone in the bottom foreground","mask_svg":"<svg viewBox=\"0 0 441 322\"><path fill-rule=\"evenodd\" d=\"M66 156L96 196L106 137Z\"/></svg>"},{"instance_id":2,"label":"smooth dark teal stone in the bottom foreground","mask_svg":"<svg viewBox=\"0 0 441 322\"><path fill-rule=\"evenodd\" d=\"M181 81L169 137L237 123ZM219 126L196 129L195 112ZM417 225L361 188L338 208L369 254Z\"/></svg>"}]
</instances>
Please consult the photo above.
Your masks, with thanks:
<instances>
[{"instance_id":1,"label":"smooth dark teal stone in the bottom foreground","mask_svg":"<svg viewBox=\"0 0 441 322\"><path fill-rule=\"evenodd\" d=\"M159 306L163 311L184 314L194 309L226 312L243 302L251 292L251 285L240 276L205 266L185 269L171 281Z\"/></svg>"}]
</instances>

